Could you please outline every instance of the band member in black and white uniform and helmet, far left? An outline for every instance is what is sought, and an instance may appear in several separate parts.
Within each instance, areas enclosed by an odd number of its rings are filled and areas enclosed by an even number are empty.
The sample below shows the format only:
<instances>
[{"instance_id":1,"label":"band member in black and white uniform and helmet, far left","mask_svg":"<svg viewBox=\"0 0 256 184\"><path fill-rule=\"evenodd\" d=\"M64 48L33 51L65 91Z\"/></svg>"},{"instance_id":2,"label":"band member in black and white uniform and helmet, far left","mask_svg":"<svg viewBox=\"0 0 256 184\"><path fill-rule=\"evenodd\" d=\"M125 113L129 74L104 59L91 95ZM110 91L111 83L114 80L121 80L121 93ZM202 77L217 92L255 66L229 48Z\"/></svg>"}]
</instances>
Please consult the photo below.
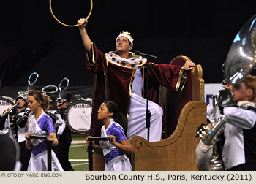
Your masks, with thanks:
<instances>
[{"instance_id":1,"label":"band member in black and white uniform and helmet, far left","mask_svg":"<svg viewBox=\"0 0 256 184\"><path fill-rule=\"evenodd\" d=\"M0 129L8 130L10 138L15 139L20 146L21 170L26 171L29 165L31 150L26 149L25 134L27 131L26 120L29 110L26 109L27 94L20 93L15 101L16 107L11 107L10 112L0 119Z\"/></svg>"}]
</instances>

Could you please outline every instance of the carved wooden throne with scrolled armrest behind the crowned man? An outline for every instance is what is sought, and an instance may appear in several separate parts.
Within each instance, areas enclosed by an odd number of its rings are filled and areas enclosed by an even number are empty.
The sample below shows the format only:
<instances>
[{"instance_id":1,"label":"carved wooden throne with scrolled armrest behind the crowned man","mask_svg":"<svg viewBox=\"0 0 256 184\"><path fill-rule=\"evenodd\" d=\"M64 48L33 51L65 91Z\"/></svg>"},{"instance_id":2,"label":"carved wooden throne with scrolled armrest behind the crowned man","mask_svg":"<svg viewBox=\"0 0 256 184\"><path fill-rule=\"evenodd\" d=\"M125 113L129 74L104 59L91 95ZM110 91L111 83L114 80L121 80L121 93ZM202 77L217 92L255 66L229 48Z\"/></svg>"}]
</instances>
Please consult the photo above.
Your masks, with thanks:
<instances>
[{"instance_id":1,"label":"carved wooden throne with scrolled armrest behind the crowned man","mask_svg":"<svg viewBox=\"0 0 256 184\"><path fill-rule=\"evenodd\" d=\"M189 60L186 56L178 56L170 64L184 64ZM182 91L162 88L162 140L148 142L139 136L129 139L135 149L132 155L134 170L197 170L195 147L198 139L195 133L201 123L206 123L203 95L204 81L200 65L187 73Z\"/></svg>"}]
</instances>

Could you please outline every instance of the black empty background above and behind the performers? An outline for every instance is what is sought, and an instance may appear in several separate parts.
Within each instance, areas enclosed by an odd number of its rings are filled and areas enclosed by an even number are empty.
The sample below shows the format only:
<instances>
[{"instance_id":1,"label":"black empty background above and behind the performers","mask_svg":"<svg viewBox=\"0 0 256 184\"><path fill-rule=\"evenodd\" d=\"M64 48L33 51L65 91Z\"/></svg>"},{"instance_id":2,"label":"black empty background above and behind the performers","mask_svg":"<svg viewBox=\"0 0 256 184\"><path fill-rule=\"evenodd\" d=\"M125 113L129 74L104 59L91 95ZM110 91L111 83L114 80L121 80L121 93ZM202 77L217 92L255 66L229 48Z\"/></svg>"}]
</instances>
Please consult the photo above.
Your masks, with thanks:
<instances>
[{"instance_id":1,"label":"black empty background above and behind the performers","mask_svg":"<svg viewBox=\"0 0 256 184\"><path fill-rule=\"evenodd\" d=\"M89 12L89 0L52 0L59 20L76 24ZM0 87L26 86L32 72L37 85L91 86L78 28L57 23L48 0L1 2ZM203 66L205 83L220 83L230 45L246 20L256 13L256 1L94 0L87 31L103 53L115 50L120 31L129 31L134 48L157 55L168 64L187 55Z\"/></svg>"}]
</instances>

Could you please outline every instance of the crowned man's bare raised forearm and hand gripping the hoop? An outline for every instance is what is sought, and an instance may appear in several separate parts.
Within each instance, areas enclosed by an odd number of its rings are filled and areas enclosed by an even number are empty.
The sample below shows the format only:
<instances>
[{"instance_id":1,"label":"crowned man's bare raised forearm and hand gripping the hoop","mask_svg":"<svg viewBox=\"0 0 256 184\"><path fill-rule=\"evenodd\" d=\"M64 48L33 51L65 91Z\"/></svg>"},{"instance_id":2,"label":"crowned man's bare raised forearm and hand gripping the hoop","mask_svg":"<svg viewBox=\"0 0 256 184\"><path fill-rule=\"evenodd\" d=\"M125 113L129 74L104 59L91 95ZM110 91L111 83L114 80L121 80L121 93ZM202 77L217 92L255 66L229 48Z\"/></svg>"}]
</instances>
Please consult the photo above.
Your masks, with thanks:
<instances>
[{"instance_id":1,"label":"crowned man's bare raised forearm and hand gripping the hoop","mask_svg":"<svg viewBox=\"0 0 256 184\"><path fill-rule=\"evenodd\" d=\"M78 20L78 26L80 35L82 37L83 46L86 48L86 50L89 52L91 50L91 39L89 38L87 31L86 31L86 25L88 21L85 18L81 18Z\"/></svg>"}]
</instances>

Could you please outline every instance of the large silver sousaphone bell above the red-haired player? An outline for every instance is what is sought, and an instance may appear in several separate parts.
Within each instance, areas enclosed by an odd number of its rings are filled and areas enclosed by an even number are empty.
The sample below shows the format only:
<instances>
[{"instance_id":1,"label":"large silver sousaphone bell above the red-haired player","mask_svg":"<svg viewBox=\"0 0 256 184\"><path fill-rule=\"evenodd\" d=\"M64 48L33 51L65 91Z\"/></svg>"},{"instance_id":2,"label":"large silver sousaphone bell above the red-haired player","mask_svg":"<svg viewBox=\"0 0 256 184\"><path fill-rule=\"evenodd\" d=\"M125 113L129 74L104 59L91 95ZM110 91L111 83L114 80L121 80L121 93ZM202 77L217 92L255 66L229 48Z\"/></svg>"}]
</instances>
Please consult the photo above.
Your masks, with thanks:
<instances>
[{"instance_id":1,"label":"large silver sousaphone bell above the red-haired player","mask_svg":"<svg viewBox=\"0 0 256 184\"><path fill-rule=\"evenodd\" d=\"M223 67L227 83L235 85L255 69L256 63L256 15L253 15L233 40Z\"/></svg>"}]
</instances>

